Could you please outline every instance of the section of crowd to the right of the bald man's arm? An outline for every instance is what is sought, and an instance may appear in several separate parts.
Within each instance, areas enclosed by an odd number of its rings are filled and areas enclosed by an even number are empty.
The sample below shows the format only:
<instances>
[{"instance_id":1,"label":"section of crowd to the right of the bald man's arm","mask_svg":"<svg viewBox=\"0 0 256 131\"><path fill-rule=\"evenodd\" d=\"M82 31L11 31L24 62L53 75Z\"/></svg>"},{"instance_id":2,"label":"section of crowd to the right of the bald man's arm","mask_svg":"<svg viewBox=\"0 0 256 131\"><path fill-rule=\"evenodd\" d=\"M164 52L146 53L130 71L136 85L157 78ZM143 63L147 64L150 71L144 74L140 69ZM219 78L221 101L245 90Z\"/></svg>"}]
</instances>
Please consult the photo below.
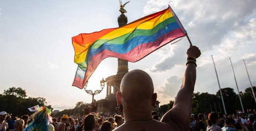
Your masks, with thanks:
<instances>
[{"instance_id":1,"label":"section of crowd to the right of the bald man's arm","mask_svg":"<svg viewBox=\"0 0 256 131\"><path fill-rule=\"evenodd\" d=\"M223 113L191 114L190 131L256 131L256 111L224 115Z\"/></svg>"}]
</instances>

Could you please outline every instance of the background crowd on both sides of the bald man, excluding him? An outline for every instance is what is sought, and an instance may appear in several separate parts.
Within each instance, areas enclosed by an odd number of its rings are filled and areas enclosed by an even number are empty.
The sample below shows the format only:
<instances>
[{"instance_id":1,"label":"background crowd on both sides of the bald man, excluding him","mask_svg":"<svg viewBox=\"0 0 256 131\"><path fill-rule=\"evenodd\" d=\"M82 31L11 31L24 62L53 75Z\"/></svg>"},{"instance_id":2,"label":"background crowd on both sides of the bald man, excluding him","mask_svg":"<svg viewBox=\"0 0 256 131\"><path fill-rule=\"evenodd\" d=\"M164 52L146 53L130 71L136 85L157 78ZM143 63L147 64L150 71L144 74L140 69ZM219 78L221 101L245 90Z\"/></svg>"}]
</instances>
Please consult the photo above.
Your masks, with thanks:
<instances>
[{"instance_id":1,"label":"background crowd on both sides of the bald man, excluding him","mask_svg":"<svg viewBox=\"0 0 256 131\"><path fill-rule=\"evenodd\" d=\"M21 118L10 116L5 111L0 112L0 131L112 131L124 122L123 114L96 114L74 116L63 115L51 118L47 107L40 107L32 116ZM154 121L161 121L159 113L151 112ZM256 111L237 112L231 115L223 113L191 114L190 131L256 131Z\"/></svg>"}]
</instances>

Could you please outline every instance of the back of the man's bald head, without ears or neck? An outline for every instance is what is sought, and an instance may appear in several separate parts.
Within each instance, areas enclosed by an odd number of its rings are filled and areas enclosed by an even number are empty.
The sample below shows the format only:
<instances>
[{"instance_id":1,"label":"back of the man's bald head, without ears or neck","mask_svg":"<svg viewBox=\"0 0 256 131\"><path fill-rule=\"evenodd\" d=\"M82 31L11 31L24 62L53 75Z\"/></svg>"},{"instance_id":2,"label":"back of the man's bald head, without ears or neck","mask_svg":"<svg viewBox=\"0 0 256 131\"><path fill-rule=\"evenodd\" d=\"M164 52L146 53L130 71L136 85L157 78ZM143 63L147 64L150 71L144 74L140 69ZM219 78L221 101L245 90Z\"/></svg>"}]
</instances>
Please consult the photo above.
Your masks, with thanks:
<instances>
[{"instance_id":1,"label":"back of the man's bald head, without ears or neck","mask_svg":"<svg viewBox=\"0 0 256 131\"><path fill-rule=\"evenodd\" d=\"M154 85L145 71L133 70L123 77L120 91L125 102L151 101Z\"/></svg>"}]
</instances>

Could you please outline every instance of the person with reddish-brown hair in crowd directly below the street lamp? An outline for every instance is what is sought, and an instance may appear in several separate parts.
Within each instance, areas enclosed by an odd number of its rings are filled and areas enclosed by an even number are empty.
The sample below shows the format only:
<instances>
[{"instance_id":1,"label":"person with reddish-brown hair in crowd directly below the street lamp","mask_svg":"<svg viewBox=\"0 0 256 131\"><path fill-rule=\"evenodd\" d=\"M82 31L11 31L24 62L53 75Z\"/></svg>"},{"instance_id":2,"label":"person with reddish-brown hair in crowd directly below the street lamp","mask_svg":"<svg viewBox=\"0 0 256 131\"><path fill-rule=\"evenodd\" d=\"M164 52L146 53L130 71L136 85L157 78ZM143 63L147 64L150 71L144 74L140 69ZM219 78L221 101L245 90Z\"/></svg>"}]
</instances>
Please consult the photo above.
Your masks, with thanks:
<instances>
[{"instance_id":1,"label":"person with reddish-brown hair in crowd directly below the street lamp","mask_svg":"<svg viewBox=\"0 0 256 131\"><path fill-rule=\"evenodd\" d=\"M84 121L84 131L94 131L96 127L96 118L93 114L88 114Z\"/></svg>"}]
</instances>

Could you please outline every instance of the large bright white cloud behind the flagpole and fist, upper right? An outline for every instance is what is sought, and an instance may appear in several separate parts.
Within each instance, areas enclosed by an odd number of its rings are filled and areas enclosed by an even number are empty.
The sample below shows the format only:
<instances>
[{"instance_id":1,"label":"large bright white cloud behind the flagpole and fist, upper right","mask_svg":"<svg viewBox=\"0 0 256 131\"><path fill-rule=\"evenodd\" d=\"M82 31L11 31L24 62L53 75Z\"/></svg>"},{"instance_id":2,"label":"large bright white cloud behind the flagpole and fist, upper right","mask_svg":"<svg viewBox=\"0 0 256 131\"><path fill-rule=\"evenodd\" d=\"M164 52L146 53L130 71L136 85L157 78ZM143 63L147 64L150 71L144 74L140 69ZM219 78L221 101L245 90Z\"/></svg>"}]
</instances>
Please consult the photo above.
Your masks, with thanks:
<instances>
[{"instance_id":1,"label":"large bright white cloud behind the flagpole and fist, upper right","mask_svg":"<svg viewBox=\"0 0 256 131\"><path fill-rule=\"evenodd\" d=\"M252 5L253 3L256 4L256 1L149 0L144 7L144 14L163 10L169 4L180 18L192 43L197 45L202 53L211 51L215 47L221 55L228 56L237 53L241 47L255 42L256 20L247 18L255 13L256 7ZM187 40L182 42L185 41ZM177 45L182 45L182 42ZM150 69L151 72L168 71L175 64L184 63L185 52L180 52L180 50L186 50L188 47L177 46L171 49L172 46L174 45L159 49L157 55L161 55L163 59L156 62ZM203 66L204 62L199 65Z\"/></svg>"}]
</instances>

